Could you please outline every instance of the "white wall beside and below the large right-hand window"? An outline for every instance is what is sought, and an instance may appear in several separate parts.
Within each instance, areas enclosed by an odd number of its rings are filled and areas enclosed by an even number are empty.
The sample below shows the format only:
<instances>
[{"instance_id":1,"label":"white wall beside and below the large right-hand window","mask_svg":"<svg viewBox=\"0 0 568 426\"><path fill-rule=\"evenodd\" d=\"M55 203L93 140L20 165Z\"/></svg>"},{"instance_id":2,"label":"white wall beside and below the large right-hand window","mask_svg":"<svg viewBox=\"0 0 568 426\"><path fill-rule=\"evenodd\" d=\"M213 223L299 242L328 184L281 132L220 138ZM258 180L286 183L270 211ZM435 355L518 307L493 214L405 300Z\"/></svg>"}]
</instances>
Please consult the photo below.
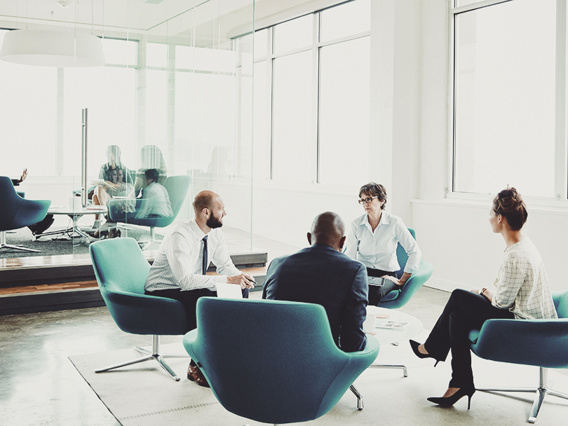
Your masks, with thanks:
<instances>
[{"instance_id":1,"label":"white wall beside and below the large right-hand window","mask_svg":"<svg viewBox=\"0 0 568 426\"><path fill-rule=\"evenodd\" d=\"M418 189L417 200L408 202L412 203L412 224L424 259L434 266L428 285L447 290L490 287L506 247L501 235L492 233L487 223L492 197L445 199L445 188L451 186L447 159L452 140L448 125L448 10L446 0L421 2ZM565 202L542 207L541 200L526 201L529 219L524 231L543 256L550 287L567 289L568 208Z\"/></svg>"}]
</instances>

